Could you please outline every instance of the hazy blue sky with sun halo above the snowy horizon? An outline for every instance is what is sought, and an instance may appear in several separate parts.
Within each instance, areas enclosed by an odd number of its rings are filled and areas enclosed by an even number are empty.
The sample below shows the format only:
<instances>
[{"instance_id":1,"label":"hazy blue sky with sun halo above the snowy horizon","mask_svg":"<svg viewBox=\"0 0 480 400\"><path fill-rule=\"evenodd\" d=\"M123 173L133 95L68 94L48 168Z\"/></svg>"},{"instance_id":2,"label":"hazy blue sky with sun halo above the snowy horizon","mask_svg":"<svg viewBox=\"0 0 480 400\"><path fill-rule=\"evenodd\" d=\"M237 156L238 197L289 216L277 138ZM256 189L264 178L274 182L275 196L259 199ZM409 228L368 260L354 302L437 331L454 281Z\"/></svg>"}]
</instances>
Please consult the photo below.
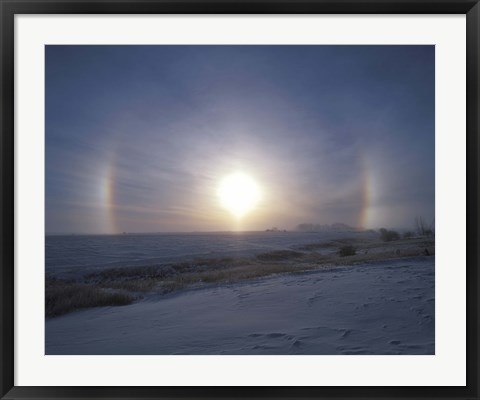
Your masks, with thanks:
<instances>
[{"instance_id":1,"label":"hazy blue sky with sun halo above the snowy horizon","mask_svg":"<svg viewBox=\"0 0 480 400\"><path fill-rule=\"evenodd\" d=\"M434 219L434 46L48 45L45 56L47 233ZM239 173L258 191L241 216L219 198Z\"/></svg>"}]
</instances>

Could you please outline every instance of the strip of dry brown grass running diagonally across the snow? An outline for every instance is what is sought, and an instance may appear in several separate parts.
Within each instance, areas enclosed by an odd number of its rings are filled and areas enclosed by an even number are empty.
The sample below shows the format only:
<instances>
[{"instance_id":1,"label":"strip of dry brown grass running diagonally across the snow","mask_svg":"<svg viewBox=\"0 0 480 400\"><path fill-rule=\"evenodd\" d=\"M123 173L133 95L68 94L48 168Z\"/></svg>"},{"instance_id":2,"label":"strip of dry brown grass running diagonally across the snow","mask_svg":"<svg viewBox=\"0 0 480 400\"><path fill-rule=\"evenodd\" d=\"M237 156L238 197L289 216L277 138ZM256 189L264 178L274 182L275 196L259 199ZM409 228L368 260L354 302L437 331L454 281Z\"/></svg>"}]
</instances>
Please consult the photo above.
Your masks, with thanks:
<instances>
[{"instance_id":1,"label":"strip of dry brown grass running diagonally across the snow","mask_svg":"<svg viewBox=\"0 0 480 400\"><path fill-rule=\"evenodd\" d=\"M352 247L353 244L355 254L350 252L348 257L342 257L341 249ZM315 252L322 247L337 249L337 252L328 255ZM53 317L84 307L130 304L138 292L169 293L273 274L434 255L435 241L410 238L387 244L380 240L354 238L312 243L302 247L302 250L271 251L253 258L198 258L169 266L111 268L87 275L84 283L49 280L46 284L46 316Z\"/></svg>"}]
</instances>

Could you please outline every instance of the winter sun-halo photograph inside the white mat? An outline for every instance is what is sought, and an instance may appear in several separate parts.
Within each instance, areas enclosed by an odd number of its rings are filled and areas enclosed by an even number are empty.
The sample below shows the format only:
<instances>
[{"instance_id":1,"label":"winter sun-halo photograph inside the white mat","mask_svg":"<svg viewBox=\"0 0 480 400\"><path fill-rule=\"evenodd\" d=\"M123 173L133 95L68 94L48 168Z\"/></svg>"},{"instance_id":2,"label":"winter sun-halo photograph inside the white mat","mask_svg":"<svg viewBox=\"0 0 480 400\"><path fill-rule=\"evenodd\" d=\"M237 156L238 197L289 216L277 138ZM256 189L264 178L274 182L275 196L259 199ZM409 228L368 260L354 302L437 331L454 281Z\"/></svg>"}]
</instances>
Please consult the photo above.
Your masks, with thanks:
<instances>
[{"instance_id":1,"label":"winter sun-halo photograph inside the white mat","mask_svg":"<svg viewBox=\"0 0 480 400\"><path fill-rule=\"evenodd\" d=\"M45 355L435 355L435 46L46 45Z\"/></svg>"}]
</instances>

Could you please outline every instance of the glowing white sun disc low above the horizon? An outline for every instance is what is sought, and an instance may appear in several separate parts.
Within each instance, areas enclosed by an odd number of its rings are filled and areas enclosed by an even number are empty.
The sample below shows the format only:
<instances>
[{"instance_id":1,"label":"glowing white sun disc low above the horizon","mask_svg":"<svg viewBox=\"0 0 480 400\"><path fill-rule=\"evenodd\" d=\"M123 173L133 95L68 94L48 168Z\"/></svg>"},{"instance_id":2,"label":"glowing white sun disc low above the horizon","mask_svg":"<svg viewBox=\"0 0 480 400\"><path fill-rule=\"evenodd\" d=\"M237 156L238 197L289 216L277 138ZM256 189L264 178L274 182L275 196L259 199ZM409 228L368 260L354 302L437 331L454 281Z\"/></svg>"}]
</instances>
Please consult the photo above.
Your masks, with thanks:
<instances>
[{"instance_id":1,"label":"glowing white sun disc low above the horizon","mask_svg":"<svg viewBox=\"0 0 480 400\"><path fill-rule=\"evenodd\" d=\"M237 218L251 211L260 200L257 183L241 172L223 178L217 193L222 207Z\"/></svg>"}]
</instances>

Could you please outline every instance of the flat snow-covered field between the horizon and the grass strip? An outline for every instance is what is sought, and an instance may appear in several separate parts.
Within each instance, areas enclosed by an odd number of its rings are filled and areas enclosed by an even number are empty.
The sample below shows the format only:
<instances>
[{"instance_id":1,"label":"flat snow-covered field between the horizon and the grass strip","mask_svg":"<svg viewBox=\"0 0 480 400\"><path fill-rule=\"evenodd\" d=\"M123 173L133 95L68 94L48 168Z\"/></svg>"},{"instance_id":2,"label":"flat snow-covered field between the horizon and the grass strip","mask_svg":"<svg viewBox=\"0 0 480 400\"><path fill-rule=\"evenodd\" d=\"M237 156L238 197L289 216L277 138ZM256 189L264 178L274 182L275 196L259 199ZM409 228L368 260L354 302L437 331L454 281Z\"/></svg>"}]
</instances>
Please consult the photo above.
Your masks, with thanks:
<instances>
[{"instance_id":1,"label":"flat snow-covered field between the horizon and the grass strip","mask_svg":"<svg viewBox=\"0 0 480 400\"><path fill-rule=\"evenodd\" d=\"M244 257L370 232L202 232L46 236L45 270L56 277L122 266L159 265L193 258Z\"/></svg>"}]
</instances>

